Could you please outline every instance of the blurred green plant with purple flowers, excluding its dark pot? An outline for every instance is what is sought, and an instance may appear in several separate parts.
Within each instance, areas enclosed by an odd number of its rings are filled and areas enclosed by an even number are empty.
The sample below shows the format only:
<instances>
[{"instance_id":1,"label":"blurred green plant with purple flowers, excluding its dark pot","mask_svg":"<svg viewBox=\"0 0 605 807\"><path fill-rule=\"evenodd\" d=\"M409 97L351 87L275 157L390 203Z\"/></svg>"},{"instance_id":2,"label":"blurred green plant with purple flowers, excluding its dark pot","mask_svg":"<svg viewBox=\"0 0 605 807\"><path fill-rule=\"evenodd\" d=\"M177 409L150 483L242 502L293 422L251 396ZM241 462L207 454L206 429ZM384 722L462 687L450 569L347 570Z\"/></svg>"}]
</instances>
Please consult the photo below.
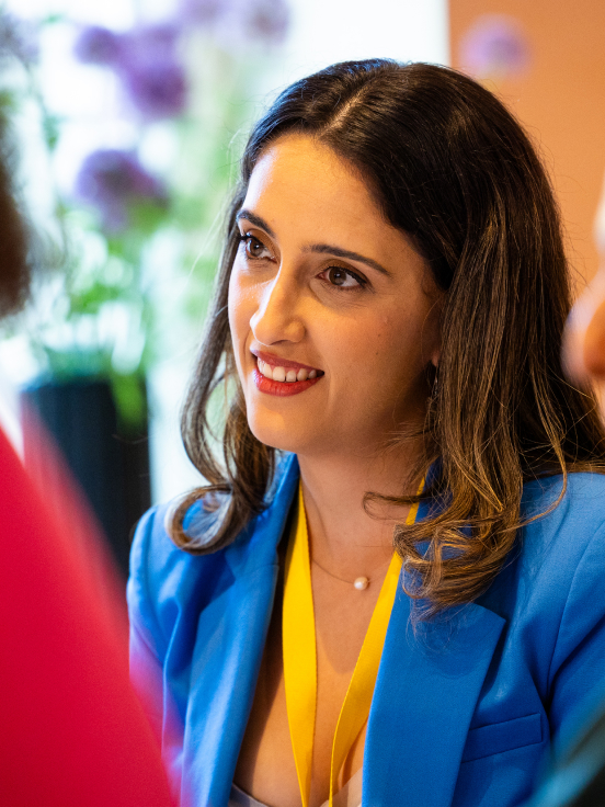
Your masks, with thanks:
<instances>
[{"instance_id":1,"label":"blurred green plant with purple flowers, excluding its dark pot","mask_svg":"<svg viewBox=\"0 0 605 807\"><path fill-rule=\"evenodd\" d=\"M237 159L231 143L287 23L284 0L184 0L164 21L121 32L56 15L39 23L38 38L48 27L71 35L73 69L111 73L112 98L100 106L113 106L113 127L75 175L71 167L71 181L57 183L62 265L36 289L30 345L42 376L110 379L121 423L135 431L146 422L150 364L198 333L217 260L213 228ZM7 13L0 25L27 75L11 103L35 101L50 170L60 169L64 135L72 139L77 122L48 111L34 32L26 39ZM158 251L170 265L158 266ZM158 298L158 271L162 291L167 275L173 288L186 286L171 300L178 314ZM159 320L168 312L167 339Z\"/></svg>"}]
</instances>

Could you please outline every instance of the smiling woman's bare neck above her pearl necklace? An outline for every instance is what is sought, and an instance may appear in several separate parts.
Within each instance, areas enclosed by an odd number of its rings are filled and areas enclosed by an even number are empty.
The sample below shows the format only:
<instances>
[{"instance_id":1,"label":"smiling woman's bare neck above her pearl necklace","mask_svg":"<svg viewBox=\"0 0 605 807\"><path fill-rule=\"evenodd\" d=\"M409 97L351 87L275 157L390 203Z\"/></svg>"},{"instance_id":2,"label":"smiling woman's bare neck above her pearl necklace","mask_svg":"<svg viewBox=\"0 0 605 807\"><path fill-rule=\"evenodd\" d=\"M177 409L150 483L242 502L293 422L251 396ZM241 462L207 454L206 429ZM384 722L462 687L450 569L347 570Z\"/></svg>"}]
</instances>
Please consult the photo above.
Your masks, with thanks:
<instances>
[{"instance_id":1,"label":"smiling woman's bare neck above her pearl necklace","mask_svg":"<svg viewBox=\"0 0 605 807\"><path fill-rule=\"evenodd\" d=\"M298 455L311 557L334 575L354 579L372 576L392 555L392 531L409 508L372 504L364 510L364 496L409 496L418 490L411 478L419 446L381 452L368 459L347 456Z\"/></svg>"}]
</instances>

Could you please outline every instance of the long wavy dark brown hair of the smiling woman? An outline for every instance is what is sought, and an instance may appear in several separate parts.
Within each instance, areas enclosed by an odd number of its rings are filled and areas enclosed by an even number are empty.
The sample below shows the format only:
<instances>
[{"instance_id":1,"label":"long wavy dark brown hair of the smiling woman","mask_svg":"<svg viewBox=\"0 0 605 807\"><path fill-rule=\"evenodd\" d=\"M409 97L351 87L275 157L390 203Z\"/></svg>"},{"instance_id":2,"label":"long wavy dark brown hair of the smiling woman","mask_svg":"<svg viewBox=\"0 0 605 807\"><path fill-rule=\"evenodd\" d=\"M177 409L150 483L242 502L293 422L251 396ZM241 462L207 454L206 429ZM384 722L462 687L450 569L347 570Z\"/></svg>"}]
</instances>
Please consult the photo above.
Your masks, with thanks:
<instances>
[{"instance_id":1,"label":"long wavy dark brown hair of the smiling woman","mask_svg":"<svg viewBox=\"0 0 605 807\"><path fill-rule=\"evenodd\" d=\"M227 294L236 213L259 157L286 134L317 138L353 164L385 219L413 239L445 293L438 385L426 400L422 457L423 469L438 459L430 493L441 508L400 524L395 544L412 572L409 593L429 603L429 614L470 602L514 545L523 484L562 474L564 489L569 471L603 471L605 433L592 394L563 378L570 284L548 177L494 95L433 65L334 65L285 90L252 130L182 421L189 456L208 485L175 509L172 538L191 553L229 544L263 509L274 471L274 450L248 428ZM207 414L221 384L235 390L221 435L224 464L213 455ZM404 425L401 440L409 439ZM218 524L213 541L201 544L187 536L183 518L195 500L217 493L224 495ZM366 504L381 499L368 491ZM419 549L423 542L427 552Z\"/></svg>"}]
</instances>

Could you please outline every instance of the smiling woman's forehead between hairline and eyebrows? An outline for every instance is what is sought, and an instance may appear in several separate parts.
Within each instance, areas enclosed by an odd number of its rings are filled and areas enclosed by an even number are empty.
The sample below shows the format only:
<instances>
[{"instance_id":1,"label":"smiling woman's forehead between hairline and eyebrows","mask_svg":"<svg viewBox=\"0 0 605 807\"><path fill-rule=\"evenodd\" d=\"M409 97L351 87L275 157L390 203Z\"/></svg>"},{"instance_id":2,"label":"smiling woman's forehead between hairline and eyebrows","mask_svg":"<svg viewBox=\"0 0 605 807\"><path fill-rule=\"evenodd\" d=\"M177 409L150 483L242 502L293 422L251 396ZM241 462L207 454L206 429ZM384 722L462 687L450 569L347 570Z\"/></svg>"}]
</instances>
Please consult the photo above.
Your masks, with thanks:
<instances>
[{"instance_id":1,"label":"smiling woman's forehead between hairline and eyebrows","mask_svg":"<svg viewBox=\"0 0 605 807\"><path fill-rule=\"evenodd\" d=\"M243 206L261 215L279 237L296 226L301 238L380 240L401 238L388 224L367 184L329 146L288 135L272 144L258 161ZM284 234L285 235L285 234Z\"/></svg>"}]
</instances>

